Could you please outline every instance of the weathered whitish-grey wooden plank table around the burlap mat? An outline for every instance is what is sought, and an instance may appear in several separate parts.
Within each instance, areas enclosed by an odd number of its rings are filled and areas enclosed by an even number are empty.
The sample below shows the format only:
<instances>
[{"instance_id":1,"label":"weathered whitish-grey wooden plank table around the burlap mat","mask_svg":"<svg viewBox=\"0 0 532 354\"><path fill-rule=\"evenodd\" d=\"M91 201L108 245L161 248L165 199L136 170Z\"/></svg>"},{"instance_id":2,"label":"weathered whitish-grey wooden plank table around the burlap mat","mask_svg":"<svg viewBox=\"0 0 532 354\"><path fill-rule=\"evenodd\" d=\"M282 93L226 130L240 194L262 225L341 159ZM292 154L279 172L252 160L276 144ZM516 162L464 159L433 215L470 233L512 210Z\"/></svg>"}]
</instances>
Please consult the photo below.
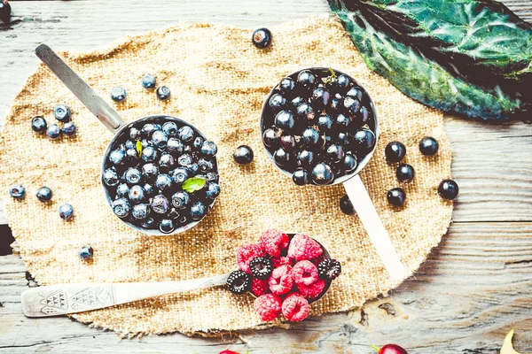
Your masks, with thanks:
<instances>
[{"instance_id":1,"label":"weathered whitish-grey wooden plank table around the burlap mat","mask_svg":"<svg viewBox=\"0 0 532 354\"><path fill-rule=\"evenodd\" d=\"M505 4L532 19L532 0ZM1 119L35 70L33 49L39 42L92 50L182 20L254 28L328 12L325 0L12 1L12 7L18 23L0 27ZM460 186L454 222L419 272L391 296L289 329L250 330L221 339L162 335L119 342L111 332L66 318L24 317L20 292L32 281L20 257L7 255L0 257L0 352L370 353L370 343L397 342L411 353L485 354L498 353L511 328L516 350L531 352L532 125L448 117L446 126ZM0 212L0 224L5 223ZM10 239L7 227L0 228L0 249Z\"/></svg>"}]
</instances>

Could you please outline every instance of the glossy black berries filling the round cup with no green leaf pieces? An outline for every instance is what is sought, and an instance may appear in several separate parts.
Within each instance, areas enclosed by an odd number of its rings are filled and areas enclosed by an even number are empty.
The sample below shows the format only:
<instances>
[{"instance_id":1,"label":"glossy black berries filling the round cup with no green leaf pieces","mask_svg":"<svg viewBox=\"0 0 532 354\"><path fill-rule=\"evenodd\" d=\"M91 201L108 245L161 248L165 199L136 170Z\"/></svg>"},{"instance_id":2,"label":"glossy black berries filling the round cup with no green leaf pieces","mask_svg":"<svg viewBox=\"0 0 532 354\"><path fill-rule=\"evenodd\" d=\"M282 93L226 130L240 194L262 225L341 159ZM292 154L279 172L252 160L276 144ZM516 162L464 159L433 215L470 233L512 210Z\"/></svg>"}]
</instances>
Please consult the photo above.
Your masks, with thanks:
<instances>
[{"instance_id":1,"label":"glossy black berries filling the round cup with no green leaf pieces","mask_svg":"<svg viewBox=\"0 0 532 354\"><path fill-rule=\"evenodd\" d=\"M372 152L375 119L367 93L332 69L284 78L262 111L262 142L297 185L326 185L354 173ZM346 178L347 179L347 178Z\"/></svg>"}]
</instances>

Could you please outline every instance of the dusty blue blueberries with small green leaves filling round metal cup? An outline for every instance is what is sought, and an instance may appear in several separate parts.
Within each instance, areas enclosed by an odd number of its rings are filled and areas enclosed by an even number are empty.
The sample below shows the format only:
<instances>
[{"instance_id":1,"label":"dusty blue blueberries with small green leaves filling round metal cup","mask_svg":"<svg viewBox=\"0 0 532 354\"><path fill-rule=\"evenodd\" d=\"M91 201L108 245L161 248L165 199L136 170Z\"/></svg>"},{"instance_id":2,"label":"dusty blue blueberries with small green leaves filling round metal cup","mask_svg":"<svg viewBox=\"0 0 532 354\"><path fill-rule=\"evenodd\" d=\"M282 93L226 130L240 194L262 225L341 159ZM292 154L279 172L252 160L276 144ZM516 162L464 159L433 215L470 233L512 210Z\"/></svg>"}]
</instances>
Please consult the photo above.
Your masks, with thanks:
<instances>
[{"instance_id":1,"label":"dusty blue blueberries with small green leaves filling round metal cup","mask_svg":"<svg viewBox=\"0 0 532 354\"><path fill-rule=\"evenodd\" d=\"M179 119L141 119L107 151L109 204L133 227L169 234L202 219L220 194L215 142Z\"/></svg>"}]
</instances>

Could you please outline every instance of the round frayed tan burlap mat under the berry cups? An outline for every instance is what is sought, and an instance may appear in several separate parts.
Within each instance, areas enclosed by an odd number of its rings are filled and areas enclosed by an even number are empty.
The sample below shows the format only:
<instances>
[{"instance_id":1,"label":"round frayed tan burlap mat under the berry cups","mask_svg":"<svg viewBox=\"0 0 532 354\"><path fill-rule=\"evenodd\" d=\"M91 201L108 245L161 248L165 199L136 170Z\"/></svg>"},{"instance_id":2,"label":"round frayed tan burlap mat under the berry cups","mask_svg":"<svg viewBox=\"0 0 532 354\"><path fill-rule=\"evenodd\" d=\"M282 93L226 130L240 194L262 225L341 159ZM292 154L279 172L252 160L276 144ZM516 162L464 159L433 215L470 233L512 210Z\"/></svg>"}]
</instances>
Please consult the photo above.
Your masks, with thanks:
<instances>
[{"instance_id":1,"label":"round frayed tan burlap mat under the berry cups","mask_svg":"<svg viewBox=\"0 0 532 354\"><path fill-rule=\"evenodd\" d=\"M372 73L334 19L307 19L270 28L273 44L257 50L251 30L218 24L185 24L129 38L106 50L81 55L62 53L74 70L109 102L113 86L128 90L114 104L126 120L156 113L186 119L219 147L222 195L198 227L181 235L139 234L115 216L99 182L101 158L111 134L51 72L40 66L16 97L0 143L1 190L13 234L27 269L42 284L79 281L168 281L210 276L236 268L235 251L257 242L262 231L277 227L313 235L340 259L343 274L311 314L340 312L393 289L360 221L340 212L341 186L300 188L271 164L262 149L259 119L270 88L287 73L309 66L332 66L353 75L377 104L382 133L374 158L362 172L379 215L413 273L440 242L450 224L452 204L436 189L450 177L450 143L442 113L412 101ZM160 102L140 85L153 73L172 98ZM75 138L52 142L36 136L30 120L41 114L53 122L56 104L68 104L79 128ZM436 157L419 153L418 142L432 135L440 142ZM404 186L408 203L390 208L388 189L399 185L384 148L399 140L408 149L405 162L416 178ZM239 166L231 153L250 145L254 163ZM27 187L22 201L8 196L9 186ZM35 189L53 190L43 204ZM59 219L60 204L74 205L74 220ZM90 244L94 261L84 263L77 250ZM75 315L85 323L121 334L216 333L265 327L253 310L252 296L206 289ZM279 324L279 322L274 323Z\"/></svg>"}]
</instances>

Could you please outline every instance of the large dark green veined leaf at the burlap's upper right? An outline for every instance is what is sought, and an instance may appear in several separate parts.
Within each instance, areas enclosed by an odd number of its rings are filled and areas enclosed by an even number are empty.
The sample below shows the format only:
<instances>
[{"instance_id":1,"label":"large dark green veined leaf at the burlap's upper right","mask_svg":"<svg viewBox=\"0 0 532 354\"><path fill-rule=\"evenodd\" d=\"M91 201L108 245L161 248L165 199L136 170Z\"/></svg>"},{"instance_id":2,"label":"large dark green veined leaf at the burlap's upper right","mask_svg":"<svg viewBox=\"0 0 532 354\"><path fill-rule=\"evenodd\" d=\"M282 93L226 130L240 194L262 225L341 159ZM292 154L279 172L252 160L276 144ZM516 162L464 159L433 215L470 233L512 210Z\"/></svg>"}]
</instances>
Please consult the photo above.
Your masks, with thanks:
<instances>
[{"instance_id":1,"label":"large dark green veined leaf at the burlap's upper right","mask_svg":"<svg viewBox=\"0 0 532 354\"><path fill-rule=\"evenodd\" d=\"M532 27L491 0L329 0L372 70L445 112L532 106Z\"/></svg>"}]
</instances>

